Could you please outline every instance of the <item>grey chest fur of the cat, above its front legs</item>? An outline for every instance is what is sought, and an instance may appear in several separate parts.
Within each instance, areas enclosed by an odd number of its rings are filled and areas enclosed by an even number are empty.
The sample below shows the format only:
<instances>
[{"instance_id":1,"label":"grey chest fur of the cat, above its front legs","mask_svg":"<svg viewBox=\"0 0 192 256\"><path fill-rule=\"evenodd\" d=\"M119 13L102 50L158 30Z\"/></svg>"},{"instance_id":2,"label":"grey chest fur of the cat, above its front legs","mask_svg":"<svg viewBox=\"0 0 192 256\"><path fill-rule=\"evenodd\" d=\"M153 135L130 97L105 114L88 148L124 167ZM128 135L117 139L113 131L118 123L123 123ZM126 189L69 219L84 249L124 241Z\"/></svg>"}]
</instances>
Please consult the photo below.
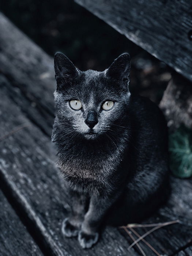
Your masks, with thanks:
<instances>
[{"instance_id":1,"label":"grey chest fur of the cat, above its front legs","mask_svg":"<svg viewBox=\"0 0 192 256\"><path fill-rule=\"evenodd\" d=\"M101 193L113 189L118 180L118 168L124 157L122 142L116 145L71 144L59 153L58 166L74 189L88 193Z\"/></svg>"}]
</instances>

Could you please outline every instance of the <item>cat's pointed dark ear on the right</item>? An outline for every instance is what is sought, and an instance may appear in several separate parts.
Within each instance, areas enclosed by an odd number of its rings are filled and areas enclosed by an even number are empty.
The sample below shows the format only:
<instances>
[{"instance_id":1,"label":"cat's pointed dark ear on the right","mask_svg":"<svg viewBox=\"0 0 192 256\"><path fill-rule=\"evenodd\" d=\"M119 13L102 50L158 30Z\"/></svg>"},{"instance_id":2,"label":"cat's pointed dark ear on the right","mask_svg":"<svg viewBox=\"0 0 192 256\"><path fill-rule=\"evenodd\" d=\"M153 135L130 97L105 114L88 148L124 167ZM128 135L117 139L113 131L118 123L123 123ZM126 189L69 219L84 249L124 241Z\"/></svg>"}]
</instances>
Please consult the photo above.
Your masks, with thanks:
<instances>
[{"instance_id":1,"label":"cat's pointed dark ear on the right","mask_svg":"<svg viewBox=\"0 0 192 256\"><path fill-rule=\"evenodd\" d=\"M128 53L124 53L113 61L105 74L116 80L129 81L130 67L130 56Z\"/></svg>"}]
</instances>

